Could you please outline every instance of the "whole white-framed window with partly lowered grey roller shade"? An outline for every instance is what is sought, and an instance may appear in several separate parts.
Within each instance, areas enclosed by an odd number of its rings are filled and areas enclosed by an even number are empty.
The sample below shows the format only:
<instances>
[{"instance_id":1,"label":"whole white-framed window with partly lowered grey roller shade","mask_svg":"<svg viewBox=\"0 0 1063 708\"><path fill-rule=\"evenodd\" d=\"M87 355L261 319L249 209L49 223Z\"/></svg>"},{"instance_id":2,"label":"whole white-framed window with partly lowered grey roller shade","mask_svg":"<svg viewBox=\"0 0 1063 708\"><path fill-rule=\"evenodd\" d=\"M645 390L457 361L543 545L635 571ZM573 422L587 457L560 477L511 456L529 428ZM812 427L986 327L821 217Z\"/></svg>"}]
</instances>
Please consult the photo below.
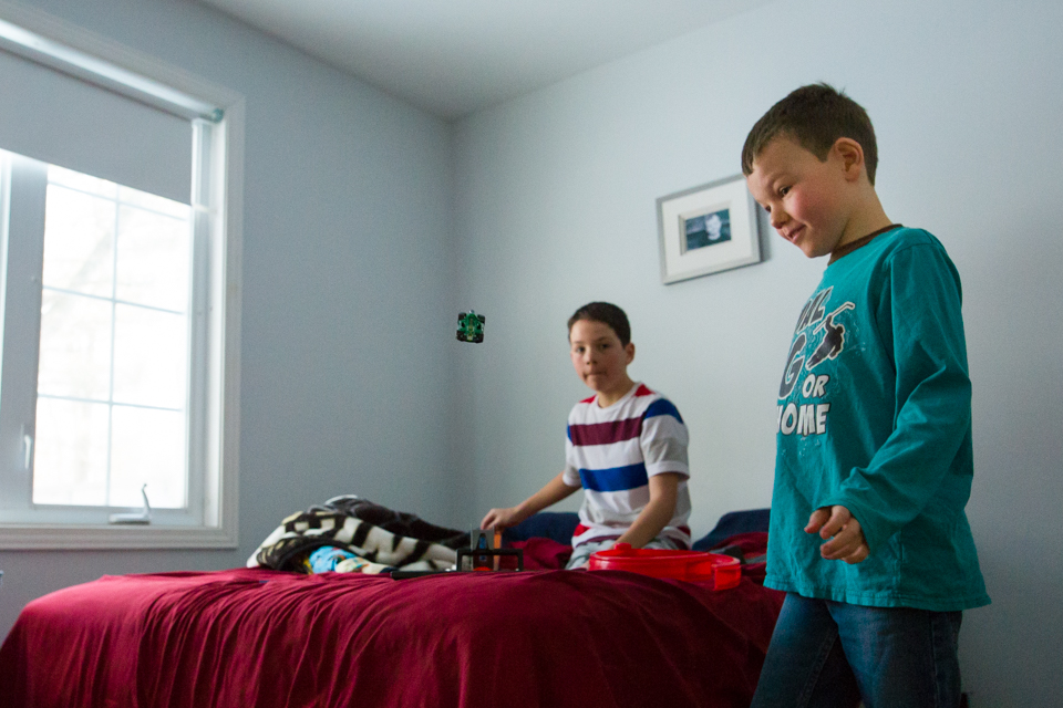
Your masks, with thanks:
<instances>
[{"instance_id":1,"label":"whole white-framed window with partly lowered grey roller shade","mask_svg":"<svg viewBox=\"0 0 1063 708\"><path fill-rule=\"evenodd\" d=\"M3 13L0 548L235 546L242 103Z\"/></svg>"}]
</instances>

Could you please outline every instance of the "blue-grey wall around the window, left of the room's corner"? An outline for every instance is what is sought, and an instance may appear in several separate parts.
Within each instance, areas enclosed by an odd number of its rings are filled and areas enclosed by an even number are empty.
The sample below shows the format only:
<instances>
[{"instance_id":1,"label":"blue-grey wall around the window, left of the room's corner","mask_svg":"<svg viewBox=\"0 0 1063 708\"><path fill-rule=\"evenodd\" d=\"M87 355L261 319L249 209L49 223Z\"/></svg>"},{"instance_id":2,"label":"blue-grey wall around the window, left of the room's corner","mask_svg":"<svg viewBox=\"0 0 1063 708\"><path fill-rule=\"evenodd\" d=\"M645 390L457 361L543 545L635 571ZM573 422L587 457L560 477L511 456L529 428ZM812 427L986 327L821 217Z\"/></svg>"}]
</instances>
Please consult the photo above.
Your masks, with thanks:
<instances>
[{"instance_id":1,"label":"blue-grey wall around the window, left of the room's corner","mask_svg":"<svg viewBox=\"0 0 1063 708\"><path fill-rule=\"evenodd\" d=\"M447 124L190 1L32 7L246 97L240 548L0 552L0 636L103 574L240 566L334 494L446 521Z\"/></svg>"}]
</instances>

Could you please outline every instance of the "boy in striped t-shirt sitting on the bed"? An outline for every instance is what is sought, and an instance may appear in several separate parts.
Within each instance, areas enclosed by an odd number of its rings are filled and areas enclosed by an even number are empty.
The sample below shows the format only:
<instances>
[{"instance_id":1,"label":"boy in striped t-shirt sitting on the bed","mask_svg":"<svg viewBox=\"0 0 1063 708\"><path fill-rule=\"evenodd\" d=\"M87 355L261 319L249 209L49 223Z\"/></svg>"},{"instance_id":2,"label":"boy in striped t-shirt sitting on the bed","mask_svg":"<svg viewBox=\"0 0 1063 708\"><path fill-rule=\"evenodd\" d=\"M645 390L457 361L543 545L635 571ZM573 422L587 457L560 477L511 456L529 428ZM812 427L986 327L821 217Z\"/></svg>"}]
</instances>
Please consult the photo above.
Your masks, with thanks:
<instances>
[{"instance_id":1,"label":"boy in striped t-shirt sitting on the bed","mask_svg":"<svg viewBox=\"0 0 1063 708\"><path fill-rule=\"evenodd\" d=\"M631 326L608 302L584 305L568 321L572 366L595 395L568 416L565 469L516 507L492 509L482 529L506 529L584 489L567 568L596 551L689 549L687 426L675 406L628 376ZM648 500L648 501L647 501Z\"/></svg>"}]
</instances>

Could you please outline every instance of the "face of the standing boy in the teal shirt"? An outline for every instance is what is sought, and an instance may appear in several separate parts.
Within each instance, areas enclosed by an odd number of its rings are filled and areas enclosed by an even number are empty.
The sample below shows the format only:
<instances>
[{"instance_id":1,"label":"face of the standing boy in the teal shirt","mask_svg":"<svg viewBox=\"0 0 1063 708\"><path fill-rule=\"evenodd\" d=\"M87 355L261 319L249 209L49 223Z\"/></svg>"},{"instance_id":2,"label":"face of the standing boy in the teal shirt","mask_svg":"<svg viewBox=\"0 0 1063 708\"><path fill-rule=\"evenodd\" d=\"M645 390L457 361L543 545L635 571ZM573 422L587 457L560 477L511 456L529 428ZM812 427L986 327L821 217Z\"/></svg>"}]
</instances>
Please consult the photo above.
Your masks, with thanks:
<instances>
[{"instance_id":1,"label":"face of the standing boy in the teal shirt","mask_svg":"<svg viewBox=\"0 0 1063 708\"><path fill-rule=\"evenodd\" d=\"M745 180L772 227L805 256L826 256L842 246L850 179L837 149L821 162L795 140L776 137L754 158Z\"/></svg>"}]
</instances>

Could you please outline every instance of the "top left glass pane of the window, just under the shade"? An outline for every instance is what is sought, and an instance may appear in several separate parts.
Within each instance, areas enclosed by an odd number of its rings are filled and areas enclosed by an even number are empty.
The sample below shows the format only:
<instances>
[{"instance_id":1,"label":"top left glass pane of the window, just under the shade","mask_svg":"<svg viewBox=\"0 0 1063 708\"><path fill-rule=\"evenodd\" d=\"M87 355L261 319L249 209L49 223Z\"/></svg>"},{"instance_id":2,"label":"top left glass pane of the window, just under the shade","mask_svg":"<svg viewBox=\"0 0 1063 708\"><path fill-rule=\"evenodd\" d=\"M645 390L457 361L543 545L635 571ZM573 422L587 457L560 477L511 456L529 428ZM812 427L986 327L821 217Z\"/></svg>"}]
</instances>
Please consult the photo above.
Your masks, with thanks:
<instances>
[{"instance_id":1,"label":"top left glass pane of the window, just under the shade","mask_svg":"<svg viewBox=\"0 0 1063 708\"><path fill-rule=\"evenodd\" d=\"M110 298L114 202L50 185L45 204L44 285Z\"/></svg>"}]
</instances>

